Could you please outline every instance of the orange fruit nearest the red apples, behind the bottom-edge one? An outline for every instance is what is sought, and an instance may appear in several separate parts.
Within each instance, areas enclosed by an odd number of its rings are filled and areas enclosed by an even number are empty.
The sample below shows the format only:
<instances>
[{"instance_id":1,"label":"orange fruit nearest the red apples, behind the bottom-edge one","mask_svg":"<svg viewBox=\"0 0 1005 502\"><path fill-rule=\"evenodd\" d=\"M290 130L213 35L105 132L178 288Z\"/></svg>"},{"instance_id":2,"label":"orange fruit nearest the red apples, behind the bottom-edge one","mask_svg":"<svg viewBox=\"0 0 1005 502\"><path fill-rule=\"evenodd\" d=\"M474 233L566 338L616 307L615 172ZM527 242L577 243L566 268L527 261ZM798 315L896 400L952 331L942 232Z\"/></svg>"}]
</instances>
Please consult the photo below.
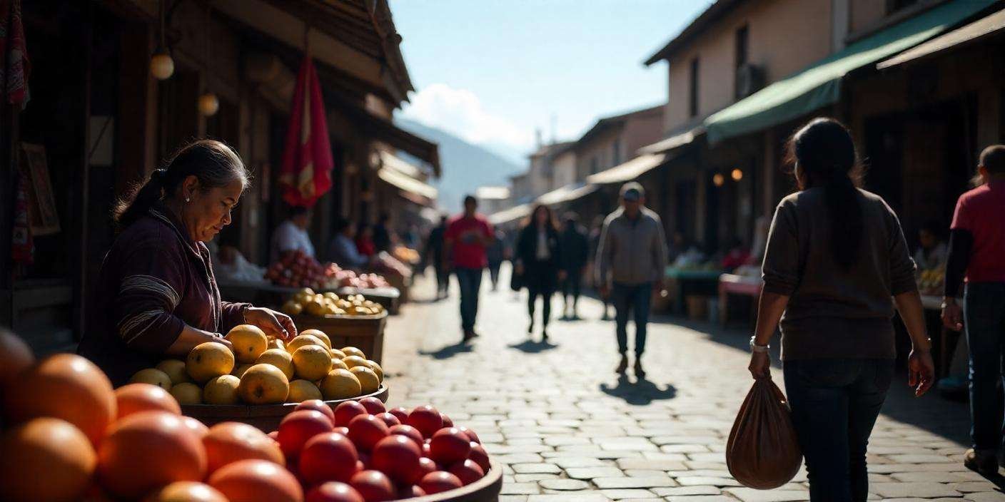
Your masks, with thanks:
<instances>
[{"instance_id":1,"label":"orange fruit nearest the red apples, behind the bottom-edge one","mask_svg":"<svg viewBox=\"0 0 1005 502\"><path fill-rule=\"evenodd\" d=\"M279 446L257 428L239 422L222 422L209 428L202 439L207 472L241 460L260 459L286 465Z\"/></svg>"}]
</instances>

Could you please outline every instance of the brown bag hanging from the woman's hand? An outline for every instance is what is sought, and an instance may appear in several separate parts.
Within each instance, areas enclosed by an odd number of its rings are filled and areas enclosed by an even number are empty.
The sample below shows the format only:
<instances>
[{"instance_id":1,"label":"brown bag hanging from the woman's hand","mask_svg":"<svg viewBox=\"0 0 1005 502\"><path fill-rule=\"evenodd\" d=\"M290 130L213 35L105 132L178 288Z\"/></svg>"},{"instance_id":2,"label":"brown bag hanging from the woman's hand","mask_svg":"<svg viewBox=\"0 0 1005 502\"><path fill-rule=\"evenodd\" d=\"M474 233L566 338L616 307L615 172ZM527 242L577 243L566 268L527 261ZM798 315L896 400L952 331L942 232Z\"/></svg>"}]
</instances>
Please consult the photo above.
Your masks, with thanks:
<instances>
[{"instance_id":1,"label":"brown bag hanging from the woman's hand","mask_svg":"<svg viewBox=\"0 0 1005 502\"><path fill-rule=\"evenodd\" d=\"M744 486L778 488L796 476L803 454L789 404L770 378L754 381L726 443L726 465Z\"/></svg>"}]
</instances>

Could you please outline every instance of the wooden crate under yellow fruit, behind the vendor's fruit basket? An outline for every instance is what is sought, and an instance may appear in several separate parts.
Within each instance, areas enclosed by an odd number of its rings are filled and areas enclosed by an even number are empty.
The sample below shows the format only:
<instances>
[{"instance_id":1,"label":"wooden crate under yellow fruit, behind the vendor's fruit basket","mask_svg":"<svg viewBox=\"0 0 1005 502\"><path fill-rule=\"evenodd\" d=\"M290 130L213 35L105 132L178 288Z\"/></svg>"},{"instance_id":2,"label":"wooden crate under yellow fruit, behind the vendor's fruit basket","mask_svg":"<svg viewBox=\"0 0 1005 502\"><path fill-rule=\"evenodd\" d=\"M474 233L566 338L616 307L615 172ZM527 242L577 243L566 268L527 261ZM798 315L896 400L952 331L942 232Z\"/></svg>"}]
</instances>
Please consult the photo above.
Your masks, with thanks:
<instances>
[{"instance_id":1,"label":"wooden crate under yellow fruit, behind the vendor's fruit basket","mask_svg":"<svg viewBox=\"0 0 1005 502\"><path fill-rule=\"evenodd\" d=\"M334 348L355 346L370 360L381 364L384 354L384 326L387 310L375 315L293 315L296 329L321 329L332 339Z\"/></svg>"}]
</instances>

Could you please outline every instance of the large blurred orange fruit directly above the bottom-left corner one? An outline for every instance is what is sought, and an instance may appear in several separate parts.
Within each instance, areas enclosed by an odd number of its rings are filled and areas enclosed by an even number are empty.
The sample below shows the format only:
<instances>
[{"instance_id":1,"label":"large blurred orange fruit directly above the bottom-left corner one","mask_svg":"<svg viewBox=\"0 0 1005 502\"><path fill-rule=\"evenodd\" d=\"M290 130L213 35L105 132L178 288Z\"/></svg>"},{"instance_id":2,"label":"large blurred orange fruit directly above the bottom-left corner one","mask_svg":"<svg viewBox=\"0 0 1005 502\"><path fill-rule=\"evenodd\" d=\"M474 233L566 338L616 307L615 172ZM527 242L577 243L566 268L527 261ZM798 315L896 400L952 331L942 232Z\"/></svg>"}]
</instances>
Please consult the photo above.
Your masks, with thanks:
<instances>
[{"instance_id":1,"label":"large blurred orange fruit directly above the bottom-left corner one","mask_svg":"<svg viewBox=\"0 0 1005 502\"><path fill-rule=\"evenodd\" d=\"M4 391L10 424L54 417L76 426L96 445L116 418L112 382L93 362L57 353L24 369Z\"/></svg>"}]
</instances>

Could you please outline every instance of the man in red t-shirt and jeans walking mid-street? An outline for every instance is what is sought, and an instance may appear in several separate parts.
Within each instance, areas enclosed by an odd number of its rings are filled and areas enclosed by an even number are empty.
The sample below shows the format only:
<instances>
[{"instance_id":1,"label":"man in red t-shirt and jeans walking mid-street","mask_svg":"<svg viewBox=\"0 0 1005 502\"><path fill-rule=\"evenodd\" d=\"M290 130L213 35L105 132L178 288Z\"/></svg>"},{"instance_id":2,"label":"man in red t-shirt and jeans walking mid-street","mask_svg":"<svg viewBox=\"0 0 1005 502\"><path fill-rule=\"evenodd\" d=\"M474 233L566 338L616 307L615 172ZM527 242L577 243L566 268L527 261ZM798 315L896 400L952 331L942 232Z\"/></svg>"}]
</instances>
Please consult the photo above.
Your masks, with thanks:
<instances>
[{"instance_id":1,"label":"man in red t-shirt and jeans walking mid-street","mask_svg":"<svg viewBox=\"0 0 1005 502\"><path fill-rule=\"evenodd\" d=\"M460 286L462 342L478 335L474 332L474 319L478 314L481 275L488 263L485 249L494 240L491 225L476 213L477 209L478 202L474 197L464 197L464 212L447 222L443 235L445 266L453 270Z\"/></svg>"}]
</instances>

